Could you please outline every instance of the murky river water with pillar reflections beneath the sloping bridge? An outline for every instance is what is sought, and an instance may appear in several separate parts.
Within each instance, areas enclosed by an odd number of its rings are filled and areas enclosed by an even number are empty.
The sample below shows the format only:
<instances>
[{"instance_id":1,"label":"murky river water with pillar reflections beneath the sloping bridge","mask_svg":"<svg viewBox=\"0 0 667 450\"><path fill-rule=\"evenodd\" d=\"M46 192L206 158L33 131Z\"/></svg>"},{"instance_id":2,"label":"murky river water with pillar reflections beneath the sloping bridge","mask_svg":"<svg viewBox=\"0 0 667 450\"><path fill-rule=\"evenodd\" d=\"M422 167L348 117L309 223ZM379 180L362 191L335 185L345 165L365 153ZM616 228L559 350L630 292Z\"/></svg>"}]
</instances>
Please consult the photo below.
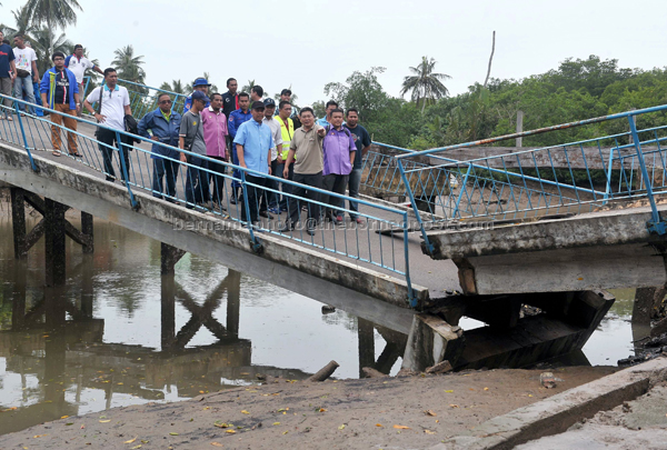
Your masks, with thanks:
<instances>
[{"instance_id":1,"label":"murky river water with pillar reflections beneath the sloping bridge","mask_svg":"<svg viewBox=\"0 0 667 450\"><path fill-rule=\"evenodd\" d=\"M43 244L14 260L10 227L0 221L0 434L258 373L303 379L331 359L337 377L398 370L405 334L190 254L160 276L159 242L101 221L96 252L68 240L67 284L47 289Z\"/></svg>"}]
</instances>

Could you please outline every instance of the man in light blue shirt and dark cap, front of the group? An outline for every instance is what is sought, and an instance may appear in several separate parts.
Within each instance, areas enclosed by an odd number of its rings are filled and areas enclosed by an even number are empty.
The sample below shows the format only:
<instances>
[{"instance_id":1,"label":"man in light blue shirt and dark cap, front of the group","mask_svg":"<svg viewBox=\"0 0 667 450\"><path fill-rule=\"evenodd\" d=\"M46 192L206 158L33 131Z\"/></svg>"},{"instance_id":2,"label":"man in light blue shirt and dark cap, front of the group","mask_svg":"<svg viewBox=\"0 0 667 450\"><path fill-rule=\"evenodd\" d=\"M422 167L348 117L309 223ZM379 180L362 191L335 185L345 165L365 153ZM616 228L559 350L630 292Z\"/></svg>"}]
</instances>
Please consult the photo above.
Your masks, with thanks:
<instances>
[{"instance_id":1,"label":"man in light blue shirt and dark cap, front of the group","mask_svg":"<svg viewBox=\"0 0 667 450\"><path fill-rule=\"evenodd\" d=\"M253 102L251 114L252 120L241 123L236 131L233 143L237 149L239 166L255 171L246 172L246 183L265 187L267 179L263 174L271 174L273 137L271 136L271 129L262 122L265 117L263 102ZM259 214L259 199L263 196L263 189L247 186L245 193L250 207L250 222L256 223ZM241 204L241 220L248 221L245 204Z\"/></svg>"}]
</instances>

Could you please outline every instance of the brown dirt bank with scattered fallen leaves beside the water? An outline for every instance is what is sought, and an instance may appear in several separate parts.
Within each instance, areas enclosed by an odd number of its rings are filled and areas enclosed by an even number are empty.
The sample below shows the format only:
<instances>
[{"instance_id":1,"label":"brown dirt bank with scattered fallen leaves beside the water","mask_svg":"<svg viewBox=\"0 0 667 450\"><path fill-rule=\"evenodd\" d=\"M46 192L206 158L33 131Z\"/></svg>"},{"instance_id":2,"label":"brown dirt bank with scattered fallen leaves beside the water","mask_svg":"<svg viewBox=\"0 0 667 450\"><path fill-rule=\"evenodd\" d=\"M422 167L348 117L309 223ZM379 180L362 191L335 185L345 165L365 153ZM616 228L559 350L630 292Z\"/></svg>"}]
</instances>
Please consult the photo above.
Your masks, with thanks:
<instances>
[{"instance_id":1,"label":"brown dirt bank with scattered fallen leaves beside the water","mask_svg":"<svg viewBox=\"0 0 667 450\"><path fill-rule=\"evenodd\" d=\"M617 371L488 370L319 383L277 380L82 417L0 437L0 449L422 449L514 409ZM0 412L0 420L12 411Z\"/></svg>"}]
</instances>

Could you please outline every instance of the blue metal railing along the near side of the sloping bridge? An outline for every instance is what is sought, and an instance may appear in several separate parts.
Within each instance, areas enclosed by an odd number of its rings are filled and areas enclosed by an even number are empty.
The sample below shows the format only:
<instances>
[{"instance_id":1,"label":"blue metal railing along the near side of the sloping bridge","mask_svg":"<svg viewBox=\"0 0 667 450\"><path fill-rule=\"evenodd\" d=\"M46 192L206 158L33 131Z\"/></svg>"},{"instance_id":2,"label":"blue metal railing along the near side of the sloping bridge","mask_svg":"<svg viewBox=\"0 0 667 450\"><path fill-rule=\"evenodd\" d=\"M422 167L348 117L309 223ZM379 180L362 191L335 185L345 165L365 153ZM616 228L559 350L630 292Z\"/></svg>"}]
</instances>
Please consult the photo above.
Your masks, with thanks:
<instances>
[{"instance_id":1,"label":"blue metal railing along the near side of the sloping bridge","mask_svg":"<svg viewBox=\"0 0 667 450\"><path fill-rule=\"evenodd\" d=\"M0 96L0 102L3 96ZM16 102L17 108L19 103L26 103L21 100L12 100ZM50 114L58 113L48 108L42 108L42 110ZM108 179L112 173L107 170L109 166L104 163L100 150L106 149L111 152L111 161L116 160L120 166L120 178L129 192L132 208L140 208L135 192L141 190L155 197L165 198L168 201L179 202L190 209L212 213L231 223L236 222L243 224L248 229L249 238L256 251L261 251L262 248L262 242L258 234L270 233L357 262L386 269L405 277L409 292L407 301L410 306L417 307L417 300L410 281L408 251L408 232L410 227L407 211L377 204L362 199L337 194L315 187L307 188L308 191L317 193L315 199L297 197L293 193L287 193L285 190L280 191L273 187L259 186L258 183L252 182L252 180L247 180L247 177L261 177L275 183L282 183L283 187L291 186L292 188L296 188L301 186L293 181L267 176L247 168L180 150L163 142L129 134L125 131L115 130L104 124L94 123L86 119L71 118L78 123L77 131L69 130L62 124L54 124L46 117L40 118L31 114L16 114L13 121L0 121L0 140L24 148L33 170L37 170L37 166L32 159L33 151L38 149L52 149L53 132L59 134L64 134L66 132L72 133L78 146L77 151L82 153L80 158L76 158L78 163L103 173ZM109 146L97 138L84 133L84 131L87 131L89 134L92 134L92 130L97 128L113 132L117 142L122 142L126 139L133 139L139 141L139 143L123 143L118 147ZM188 162L181 162L178 158L173 159L165 156L160 156L158 159L151 159L151 156L153 156L151 151L152 146L178 151L178 154L186 154L188 157ZM61 148L66 148L66 139L62 139ZM67 152L60 151L60 153L67 156ZM199 168L197 160L206 161L210 167ZM183 167L183 169L188 170L187 173L182 173L185 171L182 170L177 177L177 189L173 196L165 194L160 190L153 189L153 174L156 169L159 167L166 169L168 162L176 163L178 167ZM222 168L222 170L219 168ZM240 180L231 174L231 169L236 169L240 172ZM203 177L201 178L203 182L197 182L197 170L203 172ZM231 201L231 182L233 180L240 181L241 202L233 203ZM219 192L219 202L208 202L203 204L202 201L197 201L197 196L200 196L202 199L206 198L207 187L210 188L211 182L213 183L213 191ZM183 194L189 187L191 187L191 196ZM259 191L261 194L257 196L258 202L250 204L249 192L256 191ZM251 217L253 216L251 214L251 209L260 209L258 203L261 201L260 199L262 197L265 201L270 202L272 198L279 199L280 196L286 200L288 208L296 207L293 210L298 211L299 218L301 217L301 209L306 209L309 212L312 211L312 216L315 216L315 211L320 210L320 208L330 207L334 210L339 211L344 217L345 214L355 214L359 217L362 220L362 223L345 227L327 227L326 223L319 223L312 230L312 234L310 234L310 229L308 227L297 227L295 231L283 230L281 224L285 223L285 220L251 222ZM349 204L350 201L359 204L358 212L346 208L346 204ZM242 211L242 209L245 209L245 211ZM394 234L402 234L402 243L397 243L397 239L395 239Z\"/></svg>"}]
</instances>

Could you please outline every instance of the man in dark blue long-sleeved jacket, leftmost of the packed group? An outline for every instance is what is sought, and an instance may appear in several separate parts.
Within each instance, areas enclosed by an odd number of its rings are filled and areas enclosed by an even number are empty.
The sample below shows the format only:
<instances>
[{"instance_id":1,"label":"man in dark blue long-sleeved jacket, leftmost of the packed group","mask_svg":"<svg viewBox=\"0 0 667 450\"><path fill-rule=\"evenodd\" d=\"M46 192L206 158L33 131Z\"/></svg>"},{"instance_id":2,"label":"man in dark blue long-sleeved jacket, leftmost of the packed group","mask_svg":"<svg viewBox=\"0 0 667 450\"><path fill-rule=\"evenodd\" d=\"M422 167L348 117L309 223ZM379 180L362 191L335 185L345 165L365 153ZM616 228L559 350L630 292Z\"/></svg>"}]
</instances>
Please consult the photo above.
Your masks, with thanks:
<instances>
[{"instance_id":1,"label":"man in dark blue long-sleeved jacket, leftmost of the packed group","mask_svg":"<svg viewBox=\"0 0 667 450\"><path fill-rule=\"evenodd\" d=\"M166 146L178 147L180 122L181 116L171 110L171 97L168 93L161 93L158 98L158 109L147 113L139 121L139 134ZM151 131L152 136L148 133L148 130ZM153 143L152 154L150 156L153 160L153 197L162 198L165 192L162 178L167 177L167 196L169 197L166 200L176 203L172 197L176 197L180 152L160 143Z\"/></svg>"}]
</instances>

